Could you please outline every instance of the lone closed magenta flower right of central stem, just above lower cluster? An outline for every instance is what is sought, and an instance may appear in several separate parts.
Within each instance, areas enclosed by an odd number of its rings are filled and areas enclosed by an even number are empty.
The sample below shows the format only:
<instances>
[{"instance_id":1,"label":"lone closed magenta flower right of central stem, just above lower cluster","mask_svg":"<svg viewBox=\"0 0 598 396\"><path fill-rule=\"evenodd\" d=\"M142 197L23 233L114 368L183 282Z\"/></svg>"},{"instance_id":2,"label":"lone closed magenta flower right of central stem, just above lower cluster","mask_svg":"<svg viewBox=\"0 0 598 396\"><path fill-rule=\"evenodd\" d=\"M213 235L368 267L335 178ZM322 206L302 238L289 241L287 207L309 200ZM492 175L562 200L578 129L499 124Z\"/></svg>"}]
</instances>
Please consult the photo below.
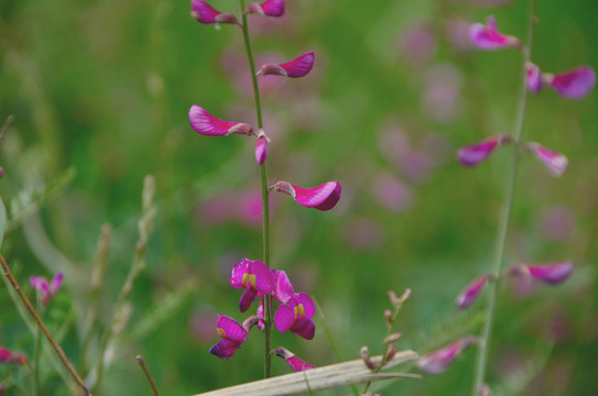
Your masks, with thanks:
<instances>
[{"instance_id":1,"label":"lone closed magenta flower right of central stem, just above lower cluster","mask_svg":"<svg viewBox=\"0 0 598 396\"><path fill-rule=\"evenodd\" d=\"M270 190L289 194L301 206L325 211L336 206L340 199L341 188L338 182L327 182L314 188L303 188L286 182L276 182L270 187Z\"/></svg>"}]
</instances>

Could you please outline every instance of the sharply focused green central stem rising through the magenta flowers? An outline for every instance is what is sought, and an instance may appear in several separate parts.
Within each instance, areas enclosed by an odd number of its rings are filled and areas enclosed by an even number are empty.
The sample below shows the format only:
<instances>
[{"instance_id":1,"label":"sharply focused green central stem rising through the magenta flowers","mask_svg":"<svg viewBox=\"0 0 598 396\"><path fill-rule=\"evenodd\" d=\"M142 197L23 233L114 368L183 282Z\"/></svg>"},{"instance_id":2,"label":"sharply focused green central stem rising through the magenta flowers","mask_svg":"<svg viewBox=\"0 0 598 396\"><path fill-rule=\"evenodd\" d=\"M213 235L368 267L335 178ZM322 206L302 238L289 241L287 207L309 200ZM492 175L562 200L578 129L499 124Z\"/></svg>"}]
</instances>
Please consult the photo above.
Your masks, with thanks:
<instances>
[{"instance_id":1,"label":"sharply focused green central stem rising through the magenta flowers","mask_svg":"<svg viewBox=\"0 0 598 396\"><path fill-rule=\"evenodd\" d=\"M244 0L239 0L241 8L241 30L243 32L244 51L249 69L251 72L251 84L253 85L253 98L255 101L255 117L258 120L258 129L263 128L262 123L262 107L260 100L260 87L258 86L258 76L255 76L255 62L251 51L251 42L249 40L249 26L247 23L247 14L244 13ZM268 172L265 162L260 166L262 178L262 208L263 208L263 263L270 266L270 197L268 190ZM272 376L272 355L271 350L272 338L272 296L264 298L264 365L263 376L270 378Z\"/></svg>"}]
</instances>

